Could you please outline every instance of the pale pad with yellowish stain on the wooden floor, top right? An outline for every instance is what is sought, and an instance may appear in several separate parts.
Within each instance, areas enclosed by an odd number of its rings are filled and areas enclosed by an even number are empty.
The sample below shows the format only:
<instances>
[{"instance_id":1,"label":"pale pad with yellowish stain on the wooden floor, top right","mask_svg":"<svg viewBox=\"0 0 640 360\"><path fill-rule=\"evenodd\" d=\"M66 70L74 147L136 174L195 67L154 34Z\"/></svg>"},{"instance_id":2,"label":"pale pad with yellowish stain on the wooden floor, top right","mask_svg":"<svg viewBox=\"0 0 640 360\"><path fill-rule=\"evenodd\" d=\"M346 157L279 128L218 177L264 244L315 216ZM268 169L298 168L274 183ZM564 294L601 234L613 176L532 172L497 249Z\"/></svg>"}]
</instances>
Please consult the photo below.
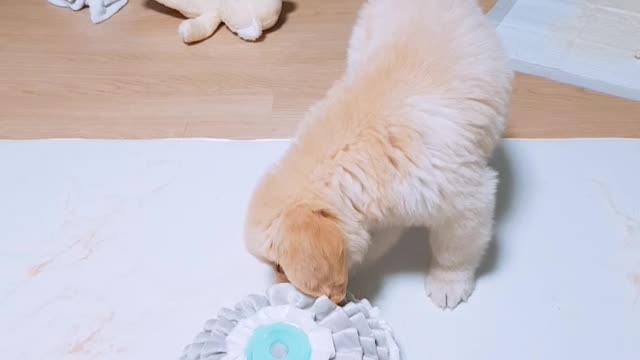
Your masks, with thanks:
<instances>
[{"instance_id":1,"label":"pale pad with yellowish stain on the wooden floor, top right","mask_svg":"<svg viewBox=\"0 0 640 360\"><path fill-rule=\"evenodd\" d=\"M499 0L489 16L516 70L640 100L640 1Z\"/></svg>"}]
</instances>

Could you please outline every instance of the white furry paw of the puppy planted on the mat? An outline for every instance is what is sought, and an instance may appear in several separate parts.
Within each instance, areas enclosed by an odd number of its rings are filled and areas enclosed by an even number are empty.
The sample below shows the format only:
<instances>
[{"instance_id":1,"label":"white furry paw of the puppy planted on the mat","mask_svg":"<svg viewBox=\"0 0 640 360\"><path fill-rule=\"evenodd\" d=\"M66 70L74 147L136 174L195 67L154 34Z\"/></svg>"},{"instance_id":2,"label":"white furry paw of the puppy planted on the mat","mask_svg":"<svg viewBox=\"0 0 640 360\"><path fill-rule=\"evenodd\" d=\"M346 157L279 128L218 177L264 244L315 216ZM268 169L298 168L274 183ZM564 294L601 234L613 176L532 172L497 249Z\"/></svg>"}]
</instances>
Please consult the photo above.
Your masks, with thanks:
<instances>
[{"instance_id":1,"label":"white furry paw of the puppy planted on the mat","mask_svg":"<svg viewBox=\"0 0 640 360\"><path fill-rule=\"evenodd\" d=\"M425 290L431 301L442 309L453 309L460 302L467 301L475 279L470 271L444 271L431 269L425 278Z\"/></svg>"}]
</instances>

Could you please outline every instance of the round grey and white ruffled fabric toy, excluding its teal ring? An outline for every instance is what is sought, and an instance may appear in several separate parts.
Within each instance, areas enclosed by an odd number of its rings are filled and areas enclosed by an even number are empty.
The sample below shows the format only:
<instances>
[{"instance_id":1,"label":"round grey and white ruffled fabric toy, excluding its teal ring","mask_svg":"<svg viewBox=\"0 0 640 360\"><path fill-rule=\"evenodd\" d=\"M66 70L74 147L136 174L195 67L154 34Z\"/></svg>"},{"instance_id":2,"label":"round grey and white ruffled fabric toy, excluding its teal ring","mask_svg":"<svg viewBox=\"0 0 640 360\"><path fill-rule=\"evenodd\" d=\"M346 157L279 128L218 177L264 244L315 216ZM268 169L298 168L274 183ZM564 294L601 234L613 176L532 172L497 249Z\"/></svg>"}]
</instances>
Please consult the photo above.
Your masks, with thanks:
<instances>
[{"instance_id":1,"label":"round grey and white ruffled fabric toy, excluding its teal ring","mask_svg":"<svg viewBox=\"0 0 640 360\"><path fill-rule=\"evenodd\" d=\"M282 324L306 335L309 360L401 359L390 327L369 301L352 299L337 306L326 296L313 299L290 284L278 284L266 296L250 295L232 309L221 309L184 349L180 360L245 360L260 328ZM305 360L287 353L286 346L278 343L271 346L267 358Z\"/></svg>"}]
</instances>

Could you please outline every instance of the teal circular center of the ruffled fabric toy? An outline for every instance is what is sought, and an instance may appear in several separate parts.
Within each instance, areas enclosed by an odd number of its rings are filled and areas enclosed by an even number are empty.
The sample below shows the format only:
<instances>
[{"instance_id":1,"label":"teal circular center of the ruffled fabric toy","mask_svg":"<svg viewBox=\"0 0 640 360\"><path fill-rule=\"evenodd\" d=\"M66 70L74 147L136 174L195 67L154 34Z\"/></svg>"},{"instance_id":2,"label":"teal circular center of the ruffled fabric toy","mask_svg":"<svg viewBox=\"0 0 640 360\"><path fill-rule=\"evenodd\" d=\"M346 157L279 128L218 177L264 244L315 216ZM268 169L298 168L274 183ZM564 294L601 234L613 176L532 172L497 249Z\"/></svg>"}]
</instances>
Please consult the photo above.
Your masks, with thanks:
<instances>
[{"instance_id":1,"label":"teal circular center of the ruffled fabric toy","mask_svg":"<svg viewBox=\"0 0 640 360\"><path fill-rule=\"evenodd\" d=\"M304 331L277 323L259 327L245 350L247 360L309 360L311 344Z\"/></svg>"}]
</instances>

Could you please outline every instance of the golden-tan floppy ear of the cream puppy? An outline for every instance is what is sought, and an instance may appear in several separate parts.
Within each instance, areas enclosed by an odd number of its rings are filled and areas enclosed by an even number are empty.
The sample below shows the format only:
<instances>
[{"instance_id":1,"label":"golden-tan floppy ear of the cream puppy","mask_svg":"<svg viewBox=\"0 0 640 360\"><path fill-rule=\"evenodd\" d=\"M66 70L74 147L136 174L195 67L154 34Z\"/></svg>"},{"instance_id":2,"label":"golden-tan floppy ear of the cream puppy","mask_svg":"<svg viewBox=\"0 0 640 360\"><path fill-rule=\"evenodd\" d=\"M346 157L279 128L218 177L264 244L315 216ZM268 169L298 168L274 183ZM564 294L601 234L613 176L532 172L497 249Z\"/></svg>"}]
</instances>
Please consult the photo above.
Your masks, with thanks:
<instances>
[{"instance_id":1,"label":"golden-tan floppy ear of the cream puppy","mask_svg":"<svg viewBox=\"0 0 640 360\"><path fill-rule=\"evenodd\" d=\"M278 263L289 281L312 296L346 297L345 239L329 211L298 206L284 214Z\"/></svg>"}]
</instances>

